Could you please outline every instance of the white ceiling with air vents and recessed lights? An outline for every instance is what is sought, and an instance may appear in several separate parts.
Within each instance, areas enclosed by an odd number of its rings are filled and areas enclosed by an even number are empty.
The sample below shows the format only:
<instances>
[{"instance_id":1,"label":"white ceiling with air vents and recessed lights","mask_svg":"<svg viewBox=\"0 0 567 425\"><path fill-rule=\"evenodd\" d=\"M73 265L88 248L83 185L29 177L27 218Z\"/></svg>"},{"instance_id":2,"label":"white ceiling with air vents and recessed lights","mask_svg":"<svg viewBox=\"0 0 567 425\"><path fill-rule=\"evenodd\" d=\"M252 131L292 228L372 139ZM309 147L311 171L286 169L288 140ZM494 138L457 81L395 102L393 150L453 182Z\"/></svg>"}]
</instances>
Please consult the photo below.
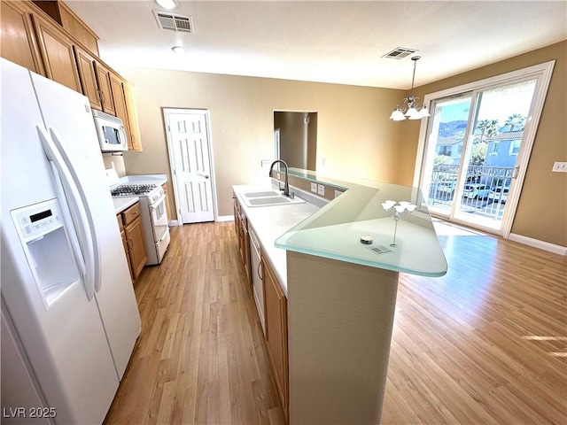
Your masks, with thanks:
<instances>
[{"instance_id":1,"label":"white ceiling with air vents and recessed lights","mask_svg":"<svg viewBox=\"0 0 567 425\"><path fill-rule=\"evenodd\" d=\"M567 39L560 1L189 1L195 34L160 30L153 1L68 0L108 65L409 89ZM171 48L182 45L186 55ZM413 55L412 55L413 56Z\"/></svg>"}]
</instances>

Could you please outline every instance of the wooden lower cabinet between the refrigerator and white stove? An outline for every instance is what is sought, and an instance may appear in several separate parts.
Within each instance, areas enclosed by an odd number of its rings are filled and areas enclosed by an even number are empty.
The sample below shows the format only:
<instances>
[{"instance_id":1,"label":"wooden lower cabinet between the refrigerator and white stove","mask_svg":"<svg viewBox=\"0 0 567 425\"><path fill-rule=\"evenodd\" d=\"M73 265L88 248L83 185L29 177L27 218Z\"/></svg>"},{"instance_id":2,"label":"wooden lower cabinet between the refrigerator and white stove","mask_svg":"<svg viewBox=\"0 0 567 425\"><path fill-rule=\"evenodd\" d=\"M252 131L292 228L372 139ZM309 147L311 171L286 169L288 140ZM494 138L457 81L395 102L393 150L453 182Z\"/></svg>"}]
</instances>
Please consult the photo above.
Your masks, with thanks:
<instances>
[{"instance_id":1,"label":"wooden lower cabinet between the refrigerator and white stove","mask_svg":"<svg viewBox=\"0 0 567 425\"><path fill-rule=\"evenodd\" d=\"M126 251L126 259L128 259L128 267L130 268L130 276L132 281L142 273L148 256L144 246L144 232L142 229L142 219L140 218L140 204L130 206L117 216L117 220L122 223L120 235L122 243Z\"/></svg>"}]
</instances>

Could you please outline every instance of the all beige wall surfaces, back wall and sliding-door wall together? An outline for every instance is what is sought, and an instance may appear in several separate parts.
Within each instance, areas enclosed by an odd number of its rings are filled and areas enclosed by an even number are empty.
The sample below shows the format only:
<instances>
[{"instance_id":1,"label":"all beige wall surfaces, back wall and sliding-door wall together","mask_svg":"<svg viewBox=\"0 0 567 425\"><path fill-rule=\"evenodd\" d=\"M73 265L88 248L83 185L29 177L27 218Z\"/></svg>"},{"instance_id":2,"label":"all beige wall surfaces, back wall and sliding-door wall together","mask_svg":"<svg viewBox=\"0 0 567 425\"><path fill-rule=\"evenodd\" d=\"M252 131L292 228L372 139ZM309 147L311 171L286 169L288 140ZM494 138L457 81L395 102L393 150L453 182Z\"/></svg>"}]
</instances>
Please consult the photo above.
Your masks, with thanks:
<instances>
[{"instance_id":1,"label":"all beige wall surfaces, back wall and sliding-door wall together","mask_svg":"<svg viewBox=\"0 0 567 425\"><path fill-rule=\"evenodd\" d=\"M551 166L567 161L566 52L567 42L560 42L416 89L423 96L556 61L512 233L562 246L567 246L567 174L551 173ZM207 109L221 216L232 213L232 184L265 178L260 160L273 158L274 110L318 112L318 172L412 183L419 122L387 119L405 95L402 90L142 68L119 71L134 85L144 145L143 153L125 154L128 174L169 174L161 107Z\"/></svg>"}]
</instances>

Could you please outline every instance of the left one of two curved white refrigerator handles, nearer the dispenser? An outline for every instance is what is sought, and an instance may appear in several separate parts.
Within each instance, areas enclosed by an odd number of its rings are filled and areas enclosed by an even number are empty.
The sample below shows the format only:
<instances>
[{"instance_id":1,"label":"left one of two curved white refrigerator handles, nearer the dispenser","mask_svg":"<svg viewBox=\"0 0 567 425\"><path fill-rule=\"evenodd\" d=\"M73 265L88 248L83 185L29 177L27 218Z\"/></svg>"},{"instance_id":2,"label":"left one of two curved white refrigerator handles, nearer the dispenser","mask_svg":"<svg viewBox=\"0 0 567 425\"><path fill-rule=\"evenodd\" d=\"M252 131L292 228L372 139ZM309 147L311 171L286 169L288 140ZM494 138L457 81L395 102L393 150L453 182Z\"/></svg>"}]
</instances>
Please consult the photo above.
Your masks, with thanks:
<instances>
[{"instance_id":1,"label":"left one of two curved white refrigerator handles, nearer the dispenser","mask_svg":"<svg viewBox=\"0 0 567 425\"><path fill-rule=\"evenodd\" d=\"M79 261L79 263L81 264L83 262L85 264L85 274L83 275L83 281L85 284L87 298L90 301L94 296L95 290L95 247L92 243L93 238L90 232L86 208L82 203L79 188L75 184L74 178L66 166L66 161L61 154L61 150L58 149L56 143L53 141L53 139L51 139L49 135L47 135L43 128L37 126L37 132L39 134L40 141L42 142L45 156L53 164L54 171L56 172L55 180L56 182L61 182L61 188L64 189L63 192L59 193L59 196L66 198L67 203L73 207L73 233L78 235L81 232L77 232L77 228L79 227L82 229L82 238L84 245L82 247L83 261ZM51 135L53 135L53 132L51 132Z\"/></svg>"}]
</instances>

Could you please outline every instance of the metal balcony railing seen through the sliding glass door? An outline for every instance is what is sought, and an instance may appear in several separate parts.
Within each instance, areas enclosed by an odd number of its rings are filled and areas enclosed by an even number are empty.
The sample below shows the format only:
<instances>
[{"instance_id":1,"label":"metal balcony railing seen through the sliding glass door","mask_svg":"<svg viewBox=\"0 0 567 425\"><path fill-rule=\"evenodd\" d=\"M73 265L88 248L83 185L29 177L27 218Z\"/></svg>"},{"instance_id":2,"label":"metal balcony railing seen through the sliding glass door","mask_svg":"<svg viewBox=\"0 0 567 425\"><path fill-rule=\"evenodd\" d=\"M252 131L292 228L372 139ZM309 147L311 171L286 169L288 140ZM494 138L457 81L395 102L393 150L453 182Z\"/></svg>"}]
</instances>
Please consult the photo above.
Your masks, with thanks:
<instances>
[{"instance_id":1,"label":"metal balcony railing seen through the sliding glass door","mask_svg":"<svg viewBox=\"0 0 567 425\"><path fill-rule=\"evenodd\" d=\"M449 209L457 192L459 166L433 166L428 203ZM516 168L509 166L469 166L460 209L501 220L509 185Z\"/></svg>"}]
</instances>

